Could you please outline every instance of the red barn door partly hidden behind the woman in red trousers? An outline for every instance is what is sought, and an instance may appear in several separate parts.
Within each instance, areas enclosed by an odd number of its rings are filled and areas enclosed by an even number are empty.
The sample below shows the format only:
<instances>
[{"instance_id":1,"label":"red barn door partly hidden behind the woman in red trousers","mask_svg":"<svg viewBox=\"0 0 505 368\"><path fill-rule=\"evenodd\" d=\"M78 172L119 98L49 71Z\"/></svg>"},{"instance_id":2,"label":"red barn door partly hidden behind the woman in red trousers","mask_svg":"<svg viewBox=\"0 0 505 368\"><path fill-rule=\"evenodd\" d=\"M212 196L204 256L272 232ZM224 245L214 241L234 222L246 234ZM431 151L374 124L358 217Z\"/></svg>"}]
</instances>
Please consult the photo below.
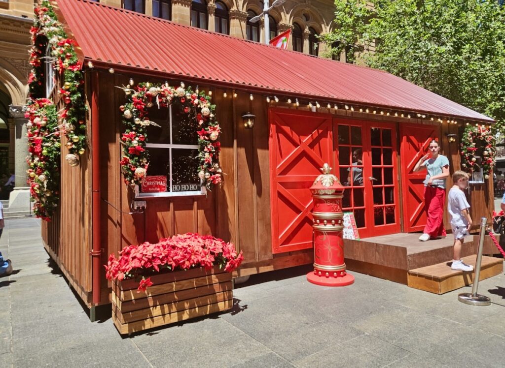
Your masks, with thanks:
<instances>
[{"instance_id":1,"label":"red barn door partly hidden behind the woman in red trousers","mask_svg":"<svg viewBox=\"0 0 505 368\"><path fill-rule=\"evenodd\" d=\"M413 172L417 161L428 152L430 141L439 137L438 126L400 124L400 162L403 188L403 224L406 232L423 230L426 170Z\"/></svg>"}]
</instances>

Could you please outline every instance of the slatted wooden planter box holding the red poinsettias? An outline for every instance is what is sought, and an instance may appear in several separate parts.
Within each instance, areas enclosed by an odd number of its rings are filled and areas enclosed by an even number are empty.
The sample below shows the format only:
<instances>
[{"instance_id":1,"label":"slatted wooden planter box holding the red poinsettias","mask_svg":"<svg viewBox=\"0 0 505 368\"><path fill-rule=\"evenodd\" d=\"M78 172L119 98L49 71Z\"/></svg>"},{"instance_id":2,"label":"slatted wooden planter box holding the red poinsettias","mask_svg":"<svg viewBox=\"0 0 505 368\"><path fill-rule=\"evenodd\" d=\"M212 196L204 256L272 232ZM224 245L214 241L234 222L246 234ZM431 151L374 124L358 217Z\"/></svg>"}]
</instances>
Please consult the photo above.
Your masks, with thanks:
<instances>
[{"instance_id":1,"label":"slatted wooden planter box holding the red poinsettias","mask_svg":"<svg viewBox=\"0 0 505 368\"><path fill-rule=\"evenodd\" d=\"M120 334L131 334L233 306L232 275L218 267L151 276L147 292L134 280L112 283L112 320Z\"/></svg>"}]
</instances>

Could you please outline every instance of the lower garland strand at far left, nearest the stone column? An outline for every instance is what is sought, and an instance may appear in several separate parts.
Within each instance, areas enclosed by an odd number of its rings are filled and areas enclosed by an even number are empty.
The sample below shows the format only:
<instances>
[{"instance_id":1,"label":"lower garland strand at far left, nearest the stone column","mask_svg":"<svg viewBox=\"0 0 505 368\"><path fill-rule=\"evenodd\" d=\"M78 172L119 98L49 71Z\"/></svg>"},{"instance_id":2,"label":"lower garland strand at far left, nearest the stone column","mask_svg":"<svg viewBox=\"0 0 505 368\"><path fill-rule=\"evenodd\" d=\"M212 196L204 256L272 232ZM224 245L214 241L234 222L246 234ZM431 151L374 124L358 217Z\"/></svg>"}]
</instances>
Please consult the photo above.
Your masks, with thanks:
<instances>
[{"instance_id":1,"label":"lower garland strand at far left, nearest the stone column","mask_svg":"<svg viewBox=\"0 0 505 368\"><path fill-rule=\"evenodd\" d=\"M49 220L58 206L60 184L60 132L56 106L46 98L31 99L25 116L28 130L28 184L33 212Z\"/></svg>"}]
</instances>

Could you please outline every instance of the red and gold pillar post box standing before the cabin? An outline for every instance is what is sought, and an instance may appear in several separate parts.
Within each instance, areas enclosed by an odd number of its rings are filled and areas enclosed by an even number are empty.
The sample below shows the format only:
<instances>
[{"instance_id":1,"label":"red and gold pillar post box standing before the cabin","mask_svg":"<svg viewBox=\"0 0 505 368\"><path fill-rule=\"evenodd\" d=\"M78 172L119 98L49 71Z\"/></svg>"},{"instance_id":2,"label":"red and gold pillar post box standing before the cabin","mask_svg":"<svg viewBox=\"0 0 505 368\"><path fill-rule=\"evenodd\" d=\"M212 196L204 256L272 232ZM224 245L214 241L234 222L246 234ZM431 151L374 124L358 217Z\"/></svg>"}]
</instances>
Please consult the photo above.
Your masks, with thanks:
<instances>
[{"instance_id":1,"label":"red and gold pillar post box standing before the cabin","mask_svg":"<svg viewBox=\"0 0 505 368\"><path fill-rule=\"evenodd\" d=\"M307 280L324 286L345 286L354 282L354 276L345 272L343 249L342 197L344 187L330 174L327 163L311 187L314 198L312 210L314 228L314 271Z\"/></svg>"}]
</instances>

